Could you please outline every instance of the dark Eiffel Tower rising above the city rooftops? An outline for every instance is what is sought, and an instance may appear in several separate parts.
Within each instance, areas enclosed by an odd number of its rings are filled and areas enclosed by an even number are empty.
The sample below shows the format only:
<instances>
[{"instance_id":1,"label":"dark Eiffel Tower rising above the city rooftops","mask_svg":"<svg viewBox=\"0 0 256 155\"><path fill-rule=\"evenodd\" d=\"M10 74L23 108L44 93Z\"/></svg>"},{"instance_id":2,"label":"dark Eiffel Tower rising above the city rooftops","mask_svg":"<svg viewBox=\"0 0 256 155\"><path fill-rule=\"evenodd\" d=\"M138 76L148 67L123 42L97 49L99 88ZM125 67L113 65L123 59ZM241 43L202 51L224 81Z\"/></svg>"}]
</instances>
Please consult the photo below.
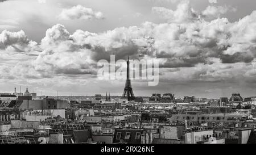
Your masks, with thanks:
<instances>
[{"instance_id":1,"label":"dark Eiffel Tower rising above the city rooftops","mask_svg":"<svg viewBox=\"0 0 256 155\"><path fill-rule=\"evenodd\" d=\"M129 74L129 56L128 56L128 60L127 60L127 78L126 78L126 82L125 82L125 89L123 90L123 98L127 98L128 100L134 100L134 94L133 94L133 88L131 87L131 80L129 78L130 74Z\"/></svg>"}]
</instances>

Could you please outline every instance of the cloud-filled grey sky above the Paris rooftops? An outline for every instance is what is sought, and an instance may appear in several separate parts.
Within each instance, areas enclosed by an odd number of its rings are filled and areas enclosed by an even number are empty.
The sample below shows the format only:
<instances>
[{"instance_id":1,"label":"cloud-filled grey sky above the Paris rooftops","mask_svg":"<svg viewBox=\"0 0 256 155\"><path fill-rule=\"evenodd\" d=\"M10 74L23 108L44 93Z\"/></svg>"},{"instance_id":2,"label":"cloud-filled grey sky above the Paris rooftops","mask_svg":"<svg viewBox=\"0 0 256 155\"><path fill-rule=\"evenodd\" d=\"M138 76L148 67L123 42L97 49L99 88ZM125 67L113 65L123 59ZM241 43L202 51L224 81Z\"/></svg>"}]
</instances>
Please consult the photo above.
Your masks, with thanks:
<instances>
[{"instance_id":1,"label":"cloud-filled grey sky above the Paris rooftops","mask_svg":"<svg viewBox=\"0 0 256 155\"><path fill-rule=\"evenodd\" d=\"M256 95L254 0L0 0L0 92L122 95L101 59L158 59L159 85L135 95Z\"/></svg>"}]
</instances>

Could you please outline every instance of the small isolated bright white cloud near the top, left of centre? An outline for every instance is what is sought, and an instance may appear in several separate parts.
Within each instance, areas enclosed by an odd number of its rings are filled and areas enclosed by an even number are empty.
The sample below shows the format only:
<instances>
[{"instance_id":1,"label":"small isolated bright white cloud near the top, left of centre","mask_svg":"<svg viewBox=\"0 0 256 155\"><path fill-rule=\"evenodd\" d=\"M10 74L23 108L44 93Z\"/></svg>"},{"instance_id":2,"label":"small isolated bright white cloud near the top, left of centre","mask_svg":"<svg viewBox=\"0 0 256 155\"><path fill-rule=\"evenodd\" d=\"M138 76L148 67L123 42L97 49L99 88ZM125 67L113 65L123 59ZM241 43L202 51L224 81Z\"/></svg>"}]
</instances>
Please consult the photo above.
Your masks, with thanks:
<instances>
[{"instance_id":1,"label":"small isolated bright white cloud near the top, left of centre","mask_svg":"<svg viewBox=\"0 0 256 155\"><path fill-rule=\"evenodd\" d=\"M72 19L104 19L102 12L94 11L93 9L86 8L81 5L73 6L70 9L64 9L59 15L59 19L72 20Z\"/></svg>"}]
</instances>

